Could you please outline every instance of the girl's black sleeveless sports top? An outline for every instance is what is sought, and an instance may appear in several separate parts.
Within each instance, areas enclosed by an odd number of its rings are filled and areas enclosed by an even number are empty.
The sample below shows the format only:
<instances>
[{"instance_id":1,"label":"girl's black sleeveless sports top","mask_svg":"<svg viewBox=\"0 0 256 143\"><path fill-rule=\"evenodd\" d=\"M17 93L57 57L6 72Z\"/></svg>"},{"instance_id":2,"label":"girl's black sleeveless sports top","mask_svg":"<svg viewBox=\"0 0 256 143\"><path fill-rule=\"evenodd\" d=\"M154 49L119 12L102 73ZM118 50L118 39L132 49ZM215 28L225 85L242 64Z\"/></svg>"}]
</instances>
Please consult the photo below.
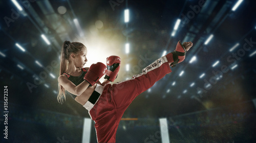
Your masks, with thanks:
<instances>
[{"instance_id":1,"label":"girl's black sleeveless sports top","mask_svg":"<svg viewBox=\"0 0 256 143\"><path fill-rule=\"evenodd\" d=\"M81 68L82 69L82 74L81 75L79 75L79 76L72 76L72 75L70 75L70 74L67 74L67 73L63 73L63 74L65 74L67 77L68 77L68 79L70 80L70 81L72 81L76 86L77 85L79 85L84 79L83 79L83 77L84 77L84 75L87 73L87 70L86 70L86 68ZM70 93L70 92L68 92L70 95L71 95L71 97L72 98L76 98L77 97L77 95L74 95L74 94L72 94L72 93Z\"/></svg>"}]
</instances>

